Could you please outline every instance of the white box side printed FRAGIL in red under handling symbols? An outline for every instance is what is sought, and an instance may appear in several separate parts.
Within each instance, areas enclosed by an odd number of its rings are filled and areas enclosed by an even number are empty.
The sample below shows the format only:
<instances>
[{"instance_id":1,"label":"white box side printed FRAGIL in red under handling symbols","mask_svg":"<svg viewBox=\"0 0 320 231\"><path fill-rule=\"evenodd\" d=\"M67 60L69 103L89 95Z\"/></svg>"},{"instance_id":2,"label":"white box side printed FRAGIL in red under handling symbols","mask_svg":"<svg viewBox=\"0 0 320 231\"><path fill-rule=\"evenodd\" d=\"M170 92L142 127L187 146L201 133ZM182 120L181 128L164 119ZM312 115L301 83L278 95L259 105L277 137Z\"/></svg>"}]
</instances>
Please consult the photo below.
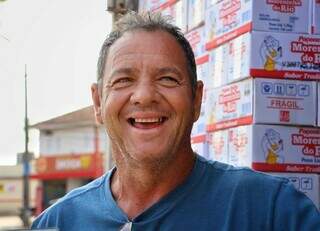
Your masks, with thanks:
<instances>
[{"instance_id":1,"label":"white box side printed FRAGIL in red under handling symbols","mask_svg":"<svg viewBox=\"0 0 320 231\"><path fill-rule=\"evenodd\" d=\"M316 126L314 81L254 79L253 123Z\"/></svg>"}]
</instances>

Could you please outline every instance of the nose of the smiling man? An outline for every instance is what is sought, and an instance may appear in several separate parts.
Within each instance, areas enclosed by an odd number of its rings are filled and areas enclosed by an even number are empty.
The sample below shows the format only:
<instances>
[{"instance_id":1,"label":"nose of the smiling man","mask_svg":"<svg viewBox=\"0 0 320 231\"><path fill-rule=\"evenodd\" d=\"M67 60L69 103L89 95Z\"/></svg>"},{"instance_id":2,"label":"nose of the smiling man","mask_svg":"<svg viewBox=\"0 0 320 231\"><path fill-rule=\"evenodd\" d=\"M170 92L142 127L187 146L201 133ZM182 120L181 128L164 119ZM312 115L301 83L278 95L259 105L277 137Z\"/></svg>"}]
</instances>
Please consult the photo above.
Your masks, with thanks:
<instances>
[{"instance_id":1,"label":"nose of the smiling man","mask_svg":"<svg viewBox=\"0 0 320 231\"><path fill-rule=\"evenodd\" d=\"M157 103L158 100L159 93L152 81L138 81L130 97L132 104L141 106Z\"/></svg>"}]
</instances>

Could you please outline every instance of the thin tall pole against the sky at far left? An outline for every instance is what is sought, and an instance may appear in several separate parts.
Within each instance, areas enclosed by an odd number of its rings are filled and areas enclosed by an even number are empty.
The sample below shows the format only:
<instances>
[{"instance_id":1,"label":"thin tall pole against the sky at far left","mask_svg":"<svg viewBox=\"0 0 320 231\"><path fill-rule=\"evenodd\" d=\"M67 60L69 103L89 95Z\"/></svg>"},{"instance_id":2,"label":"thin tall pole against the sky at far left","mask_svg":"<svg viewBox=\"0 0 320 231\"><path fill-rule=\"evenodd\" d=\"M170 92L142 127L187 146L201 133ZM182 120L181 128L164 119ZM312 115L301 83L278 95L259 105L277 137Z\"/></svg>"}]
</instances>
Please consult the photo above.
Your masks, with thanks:
<instances>
[{"instance_id":1,"label":"thin tall pole against the sky at far left","mask_svg":"<svg viewBox=\"0 0 320 231\"><path fill-rule=\"evenodd\" d=\"M28 88L27 88L27 65L24 69L24 131L25 131L25 150L23 153L23 209L22 209L22 221L26 228L30 225L30 208L29 208L29 121L28 121Z\"/></svg>"}]
</instances>

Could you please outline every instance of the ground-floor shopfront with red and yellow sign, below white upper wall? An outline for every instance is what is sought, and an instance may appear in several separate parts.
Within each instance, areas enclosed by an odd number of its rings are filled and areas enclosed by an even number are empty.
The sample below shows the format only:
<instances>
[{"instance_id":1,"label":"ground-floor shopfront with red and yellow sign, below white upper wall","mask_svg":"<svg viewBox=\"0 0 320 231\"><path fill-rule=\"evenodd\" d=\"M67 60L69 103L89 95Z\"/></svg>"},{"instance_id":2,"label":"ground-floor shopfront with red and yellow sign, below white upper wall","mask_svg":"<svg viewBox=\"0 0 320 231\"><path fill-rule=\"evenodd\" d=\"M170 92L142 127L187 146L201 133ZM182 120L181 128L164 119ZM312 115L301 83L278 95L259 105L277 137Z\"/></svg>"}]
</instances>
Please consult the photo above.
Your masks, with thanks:
<instances>
[{"instance_id":1,"label":"ground-floor shopfront with red and yellow sign, below white upper wall","mask_svg":"<svg viewBox=\"0 0 320 231\"><path fill-rule=\"evenodd\" d=\"M40 157L37 174L32 178L42 181L38 195L42 208L47 208L70 190L87 184L103 174L102 153Z\"/></svg>"}]
</instances>

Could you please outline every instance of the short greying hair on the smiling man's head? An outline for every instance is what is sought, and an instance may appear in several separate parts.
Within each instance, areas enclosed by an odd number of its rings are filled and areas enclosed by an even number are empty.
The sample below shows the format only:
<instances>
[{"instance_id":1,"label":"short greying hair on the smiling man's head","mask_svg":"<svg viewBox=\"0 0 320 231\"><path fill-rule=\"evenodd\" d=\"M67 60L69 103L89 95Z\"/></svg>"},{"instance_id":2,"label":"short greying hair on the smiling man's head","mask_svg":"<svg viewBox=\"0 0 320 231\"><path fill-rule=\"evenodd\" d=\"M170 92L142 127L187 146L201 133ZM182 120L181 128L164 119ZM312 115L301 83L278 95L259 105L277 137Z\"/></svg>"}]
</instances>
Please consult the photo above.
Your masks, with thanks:
<instances>
[{"instance_id":1,"label":"short greying hair on the smiling man's head","mask_svg":"<svg viewBox=\"0 0 320 231\"><path fill-rule=\"evenodd\" d=\"M97 71L98 84L102 82L104 76L104 67L109 48L117 41L117 39L121 38L125 32L139 29L150 32L162 30L168 32L176 39L186 56L187 71L190 78L192 96L194 97L197 88L197 69L194 54L188 40L184 37L181 30L172 25L170 21L171 17L162 16L161 13L154 12L136 13L132 11L121 17L115 24L114 30L108 35L101 47Z\"/></svg>"}]
</instances>

